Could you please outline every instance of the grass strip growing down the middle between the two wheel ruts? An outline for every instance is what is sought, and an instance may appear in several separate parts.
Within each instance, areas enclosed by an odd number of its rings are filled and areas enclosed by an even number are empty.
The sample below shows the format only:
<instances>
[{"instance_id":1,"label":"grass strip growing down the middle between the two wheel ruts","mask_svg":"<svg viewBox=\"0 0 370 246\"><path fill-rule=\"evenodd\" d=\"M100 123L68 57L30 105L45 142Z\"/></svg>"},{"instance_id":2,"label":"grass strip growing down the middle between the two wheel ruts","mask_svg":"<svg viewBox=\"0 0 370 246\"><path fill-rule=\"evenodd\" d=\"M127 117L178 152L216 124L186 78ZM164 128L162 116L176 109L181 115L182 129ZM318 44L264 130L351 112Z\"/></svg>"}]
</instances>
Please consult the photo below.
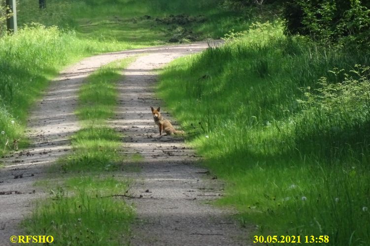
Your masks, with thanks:
<instances>
[{"instance_id":1,"label":"grass strip growing down the middle between the two wheel ruts","mask_svg":"<svg viewBox=\"0 0 370 246\"><path fill-rule=\"evenodd\" d=\"M130 241L133 208L119 199L127 193L128 183L106 177L122 168L122 136L105 120L114 115L115 84L131 60L98 69L81 87L76 113L84 127L72 137L73 153L52 168L68 177L58 181L59 186L41 182L50 188L52 198L40 202L25 220L30 234L52 235L56 245L125 245Z\"/></svg>"}]
</instances>

